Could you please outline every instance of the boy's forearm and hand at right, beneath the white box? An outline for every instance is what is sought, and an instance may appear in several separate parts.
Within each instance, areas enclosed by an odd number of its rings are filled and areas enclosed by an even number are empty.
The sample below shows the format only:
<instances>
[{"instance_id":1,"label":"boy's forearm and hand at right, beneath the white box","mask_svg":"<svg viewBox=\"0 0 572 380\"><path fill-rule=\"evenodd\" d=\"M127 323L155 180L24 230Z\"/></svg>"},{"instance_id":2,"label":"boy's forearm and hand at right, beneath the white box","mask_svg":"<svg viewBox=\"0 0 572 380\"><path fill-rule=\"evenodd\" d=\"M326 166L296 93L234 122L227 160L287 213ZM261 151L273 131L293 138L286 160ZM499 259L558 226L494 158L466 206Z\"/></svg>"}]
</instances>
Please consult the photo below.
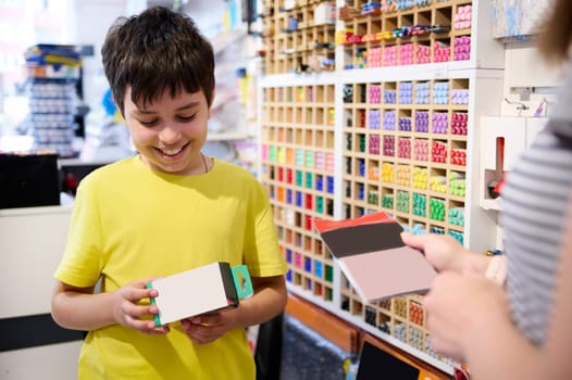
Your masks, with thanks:
<instances>
[{"instance_id":1,"label":"boy's forearm and hand at right, beneath the white box","mask_svg":"<svg viewBox=\"0 0 572 380\"><path fill-rule=\"evenodd\" d=\"M252 277L254 294L238 307L182 320L183 329L196 343L212 342L228 330L262 324L286 306L284 276Z\"/></svg>"}]
</instances>

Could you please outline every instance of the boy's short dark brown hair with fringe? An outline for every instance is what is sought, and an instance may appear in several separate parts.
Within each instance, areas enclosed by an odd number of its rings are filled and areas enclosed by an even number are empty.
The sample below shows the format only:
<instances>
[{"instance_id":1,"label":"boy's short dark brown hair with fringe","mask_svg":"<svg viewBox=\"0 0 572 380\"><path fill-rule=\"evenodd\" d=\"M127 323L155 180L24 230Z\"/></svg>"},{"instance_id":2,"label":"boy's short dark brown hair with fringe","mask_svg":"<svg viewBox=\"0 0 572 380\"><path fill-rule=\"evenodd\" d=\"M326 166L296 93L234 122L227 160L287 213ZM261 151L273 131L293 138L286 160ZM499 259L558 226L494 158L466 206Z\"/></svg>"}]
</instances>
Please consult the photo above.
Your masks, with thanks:
<instances>
[{"instance_id":1,"label":"boy's short dark brown hair with fringe","mask_svg":"<svg viewBox=\"0 0 572 380\"><path fill-rule=\"evenodd\" d=\"M101 55L122 114L127 86L137 105L149 104L165 91L176 96L199 90L211 105L214 53L188 15L153 7L139 15L119 17L108 31Z\"/></svg>"}]
</instances>

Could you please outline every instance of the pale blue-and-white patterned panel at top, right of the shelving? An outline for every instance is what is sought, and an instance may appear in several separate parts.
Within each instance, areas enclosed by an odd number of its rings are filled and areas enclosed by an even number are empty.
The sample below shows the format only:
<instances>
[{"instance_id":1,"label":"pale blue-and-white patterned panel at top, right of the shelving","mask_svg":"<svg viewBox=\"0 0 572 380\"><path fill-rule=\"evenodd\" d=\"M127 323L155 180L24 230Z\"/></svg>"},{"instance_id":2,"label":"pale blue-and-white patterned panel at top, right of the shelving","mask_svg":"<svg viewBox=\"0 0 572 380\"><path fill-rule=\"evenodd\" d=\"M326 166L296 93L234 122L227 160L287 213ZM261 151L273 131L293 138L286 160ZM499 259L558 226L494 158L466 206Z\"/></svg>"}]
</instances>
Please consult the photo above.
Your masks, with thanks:
<instances>
[{"instance_id":1,"label":"pale blue-and-white patterned panel at top, right of the shelving","mask_svg":"<svg viewBox=\"0 0 572 380\"><path fill-rule=\"evenodd\" d=\"M490 4L495 38L529 38L538 34L551 0L492 0Z\"/></svg>"}]
</instances>

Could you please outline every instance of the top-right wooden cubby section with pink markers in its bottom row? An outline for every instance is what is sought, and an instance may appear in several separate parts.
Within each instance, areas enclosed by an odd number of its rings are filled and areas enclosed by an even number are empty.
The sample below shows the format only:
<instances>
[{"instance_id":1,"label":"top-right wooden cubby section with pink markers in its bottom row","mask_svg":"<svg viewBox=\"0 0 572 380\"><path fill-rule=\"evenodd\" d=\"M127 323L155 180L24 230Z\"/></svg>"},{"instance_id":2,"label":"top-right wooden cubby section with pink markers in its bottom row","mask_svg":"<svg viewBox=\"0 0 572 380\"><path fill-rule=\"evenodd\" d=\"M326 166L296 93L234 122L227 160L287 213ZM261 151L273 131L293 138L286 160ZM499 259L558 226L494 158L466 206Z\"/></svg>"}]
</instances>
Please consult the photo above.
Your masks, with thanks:
<instances>
[{"instance_id":1,"label":"top-right wooden cubby section with pink markers in its bottom row","mask_svg":"<svg viewBox=\"0 0 572 380\"><path fill-rule=\"evenodd\" d=\"M362 9L364 4L361 3ZM360 13L346 20L340 37L349 33L359 39L357 42L352 42L356 38L345 39L344 63L356 64L363 55L371 58L370 67L469 60L469 51L456 47L470 43L471 28L467 27L470 24L456 27L453 23L455 15L468 5L471 7L471 1L432 1L402 11Z\"/></svg>"}]
</instances>

